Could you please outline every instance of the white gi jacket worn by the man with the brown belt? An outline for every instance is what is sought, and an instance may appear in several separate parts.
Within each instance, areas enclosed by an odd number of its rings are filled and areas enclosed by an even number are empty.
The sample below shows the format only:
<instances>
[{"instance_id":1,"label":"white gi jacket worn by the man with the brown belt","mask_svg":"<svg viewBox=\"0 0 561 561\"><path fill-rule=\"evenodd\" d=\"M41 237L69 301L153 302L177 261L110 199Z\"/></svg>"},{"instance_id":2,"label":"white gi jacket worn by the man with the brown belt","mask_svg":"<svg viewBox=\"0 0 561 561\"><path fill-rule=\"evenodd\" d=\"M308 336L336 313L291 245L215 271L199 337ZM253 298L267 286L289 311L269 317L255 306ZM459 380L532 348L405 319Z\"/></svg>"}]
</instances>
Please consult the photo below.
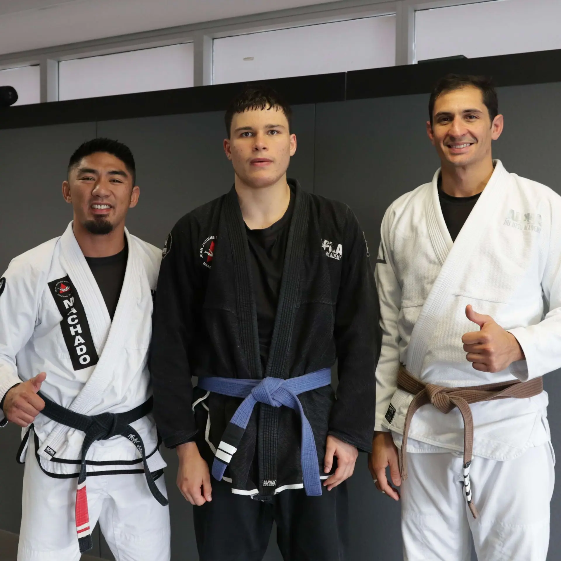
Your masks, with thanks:
<instances>
[{"instance_id":1,"label":"white gi jacket worn by the man with the brown belt","mask_svg":"<svg viewBox=\"0 0 561 561\"><path fill-rule=\"evenodd\" d=\"M376 368L376 427L401 446L411 394L396 390L399 362L413 376L448 387L526 381L561 367L561 197L508 173L499 160L452 243L431 183L394 201L381 226L376 263L383 343ZM461 341L479 326L471 304L521 344L526 360L499 373L473 369ZM549 442L548 395L471 405L473 455L520 456ZM463 422L431 405L411 422L408 452L462 454Z\"/></svg>"}]
</instances>

